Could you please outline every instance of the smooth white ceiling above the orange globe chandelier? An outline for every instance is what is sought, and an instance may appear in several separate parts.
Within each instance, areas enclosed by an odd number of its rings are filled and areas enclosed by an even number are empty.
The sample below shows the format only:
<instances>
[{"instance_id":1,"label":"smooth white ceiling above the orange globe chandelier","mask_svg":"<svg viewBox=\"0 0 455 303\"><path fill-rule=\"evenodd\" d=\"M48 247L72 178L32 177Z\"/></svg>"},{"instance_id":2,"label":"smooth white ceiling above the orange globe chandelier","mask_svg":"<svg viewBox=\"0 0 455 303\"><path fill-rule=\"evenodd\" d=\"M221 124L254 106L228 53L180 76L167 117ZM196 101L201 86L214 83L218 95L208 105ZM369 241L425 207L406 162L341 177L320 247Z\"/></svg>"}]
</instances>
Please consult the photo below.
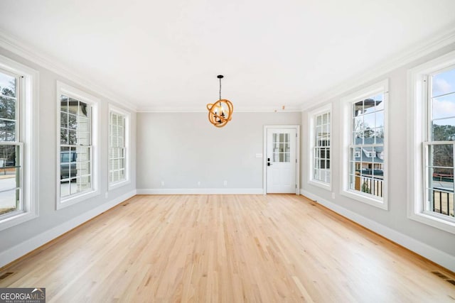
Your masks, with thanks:
<instances>
[{"instance_id":1,"label":"smooth white ceiling above the orange globe chandelier","mask_svg":"<svg viewBox=\"0 0 455 303\"><path fill-rule=\"evenodd\" d=\"M455 27L454 0L1 0L0 30L139 110L300 107Z\"/></svg>"}]
</instances>

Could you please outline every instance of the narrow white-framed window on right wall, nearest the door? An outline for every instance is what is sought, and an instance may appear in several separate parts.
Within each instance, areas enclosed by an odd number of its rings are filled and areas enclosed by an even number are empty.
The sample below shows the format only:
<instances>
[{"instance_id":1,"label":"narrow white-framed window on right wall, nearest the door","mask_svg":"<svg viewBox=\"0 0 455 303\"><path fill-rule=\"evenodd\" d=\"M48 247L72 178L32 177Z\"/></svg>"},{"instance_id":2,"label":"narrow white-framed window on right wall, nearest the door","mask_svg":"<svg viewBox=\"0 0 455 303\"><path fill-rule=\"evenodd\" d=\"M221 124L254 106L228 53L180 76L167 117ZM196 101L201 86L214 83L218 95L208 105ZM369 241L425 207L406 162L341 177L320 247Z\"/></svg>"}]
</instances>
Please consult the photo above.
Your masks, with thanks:
<instances>
[{"instance_id":1,"label":"narrow white-framed window on right wall, nearest the door","mask_svg":"<svg viewBox=\"0 0 455 303\"><path fill-rule=\"evenodd\" d=\"M310 176L316 186L331 187L331 104L309 113Z\"/></svg>"}]
</instances>

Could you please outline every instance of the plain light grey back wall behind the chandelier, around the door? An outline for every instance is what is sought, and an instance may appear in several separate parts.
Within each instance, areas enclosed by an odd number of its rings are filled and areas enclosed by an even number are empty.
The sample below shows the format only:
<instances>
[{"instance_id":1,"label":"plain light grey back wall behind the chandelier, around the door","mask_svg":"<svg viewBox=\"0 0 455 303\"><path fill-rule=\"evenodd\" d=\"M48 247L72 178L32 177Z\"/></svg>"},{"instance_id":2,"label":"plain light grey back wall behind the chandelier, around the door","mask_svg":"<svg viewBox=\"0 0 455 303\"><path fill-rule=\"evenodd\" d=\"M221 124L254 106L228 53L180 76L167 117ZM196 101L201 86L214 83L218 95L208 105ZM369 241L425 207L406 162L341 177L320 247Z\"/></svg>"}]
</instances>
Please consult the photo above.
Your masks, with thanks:
<instances>
[{"instance_id":1,"label":"plain light grey back wall behind the chandelier, around the door","mask_svg":"<svg viewBox=\"0 0 455 303\"><path fill-rule=\"evenodd\" d=\"M203 112L138 113L138 193L262 193L262 158L255 155L263 151L264 125L300 122L299 112L234 112L227 126L216 128Z\"/></svg>"}]
</instances>

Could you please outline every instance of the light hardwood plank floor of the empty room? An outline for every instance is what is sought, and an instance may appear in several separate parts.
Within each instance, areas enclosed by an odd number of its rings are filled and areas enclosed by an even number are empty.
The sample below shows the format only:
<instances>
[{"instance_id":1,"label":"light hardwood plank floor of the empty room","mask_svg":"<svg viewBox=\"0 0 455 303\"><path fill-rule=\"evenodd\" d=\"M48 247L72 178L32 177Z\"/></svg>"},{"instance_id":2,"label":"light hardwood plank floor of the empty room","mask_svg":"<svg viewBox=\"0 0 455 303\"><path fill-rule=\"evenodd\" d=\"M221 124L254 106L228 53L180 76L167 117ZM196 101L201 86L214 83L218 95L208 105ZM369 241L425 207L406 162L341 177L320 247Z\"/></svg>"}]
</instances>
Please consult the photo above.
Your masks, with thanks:
<instances>
[{"instance_id":1,"label":"light hardwood plank floor of the empty room","mask_svg":"<svg viewBox=\"0 0 455 303\"><path fill-rule=\"evenodd\" d=\"M455 302L452 272L296 195L136 196L9 268L47 302Z\"/></svg>"}]
</instances>

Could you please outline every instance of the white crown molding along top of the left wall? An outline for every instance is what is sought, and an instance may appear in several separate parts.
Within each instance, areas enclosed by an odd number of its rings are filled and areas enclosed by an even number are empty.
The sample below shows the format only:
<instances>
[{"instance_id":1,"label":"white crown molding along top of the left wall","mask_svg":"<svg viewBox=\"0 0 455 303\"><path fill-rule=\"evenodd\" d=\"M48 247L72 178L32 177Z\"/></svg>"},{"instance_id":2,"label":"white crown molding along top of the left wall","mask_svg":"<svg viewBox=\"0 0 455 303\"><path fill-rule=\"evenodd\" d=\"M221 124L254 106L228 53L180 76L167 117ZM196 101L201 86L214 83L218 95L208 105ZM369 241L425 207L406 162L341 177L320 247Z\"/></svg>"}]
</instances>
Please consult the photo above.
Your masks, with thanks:
<instances>
[{"instance_id":1,"label":"white crown molding along top of the left wall","mask_svg":"<svg viewBox=\"0 0 455 303\"><path fill-rule=\"evenodd\" d=\"M126 100L119 101L115 94L112 94L109 89L103 87L102 85L96 84L95 80L77 75L75 72L70 70L69 67L61 64L55 58L40 53L37 50L33 50L31 45L28 45L18 38L14 38L1 30L0 47L21 56L26 60L36 63L37 65L41 65L41 67L44 67L51 72L55 72L55 74L65 77L81 87L85 87L86 89L90 89L93 92L100 94L102 97L109 99L109 101L116 103L117 106L137 111L137 106Z\"/></svg>"}]
</instances>

